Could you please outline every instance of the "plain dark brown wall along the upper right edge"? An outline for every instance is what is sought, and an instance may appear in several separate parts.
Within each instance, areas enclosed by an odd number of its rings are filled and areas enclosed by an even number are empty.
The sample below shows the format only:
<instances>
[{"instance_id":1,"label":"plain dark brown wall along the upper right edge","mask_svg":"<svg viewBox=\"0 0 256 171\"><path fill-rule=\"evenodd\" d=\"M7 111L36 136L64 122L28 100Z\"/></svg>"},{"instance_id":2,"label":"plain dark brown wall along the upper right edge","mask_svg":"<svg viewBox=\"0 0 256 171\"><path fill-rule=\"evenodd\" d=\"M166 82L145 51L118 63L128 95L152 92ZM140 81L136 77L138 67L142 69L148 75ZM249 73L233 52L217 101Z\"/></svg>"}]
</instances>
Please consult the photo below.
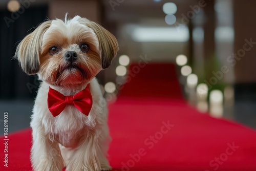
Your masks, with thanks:
<instances>
[{"instance_id":1,"label":"plain dark brown wall along the upper right edge","mask_svg":"<svg viewBox=\"0 0 256 171\"><path fill-rule=\"evenodd\" d=\"M237 54L233 65L237 83L256 83L255 5L254 0L233 1L234 53Z\"/></svg>"}]
</instances>

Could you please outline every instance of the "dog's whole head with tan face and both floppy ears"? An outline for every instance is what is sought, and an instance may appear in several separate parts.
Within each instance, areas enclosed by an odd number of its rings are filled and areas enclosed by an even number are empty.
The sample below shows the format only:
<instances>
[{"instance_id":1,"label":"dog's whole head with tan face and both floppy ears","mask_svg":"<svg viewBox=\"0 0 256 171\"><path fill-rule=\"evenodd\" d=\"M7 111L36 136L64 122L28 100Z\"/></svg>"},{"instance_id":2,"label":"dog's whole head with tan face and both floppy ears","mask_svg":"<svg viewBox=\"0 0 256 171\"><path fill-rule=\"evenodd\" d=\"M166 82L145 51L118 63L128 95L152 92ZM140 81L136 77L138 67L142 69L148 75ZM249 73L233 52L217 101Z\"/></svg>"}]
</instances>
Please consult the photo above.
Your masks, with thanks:
<instances>
[{"instance_id":1,"label":"dog's whole head with tan face and both floppy ears","mask_svg":"<svg viewBox=\"0 0 256 171\"><path fill-rule=\"evenodd\" d=\"M29 75L54 86L80 85L110 66L118 52L116 38L86 18L48 20L27 35L16 57Z\"/></svg>"}]
</instances>

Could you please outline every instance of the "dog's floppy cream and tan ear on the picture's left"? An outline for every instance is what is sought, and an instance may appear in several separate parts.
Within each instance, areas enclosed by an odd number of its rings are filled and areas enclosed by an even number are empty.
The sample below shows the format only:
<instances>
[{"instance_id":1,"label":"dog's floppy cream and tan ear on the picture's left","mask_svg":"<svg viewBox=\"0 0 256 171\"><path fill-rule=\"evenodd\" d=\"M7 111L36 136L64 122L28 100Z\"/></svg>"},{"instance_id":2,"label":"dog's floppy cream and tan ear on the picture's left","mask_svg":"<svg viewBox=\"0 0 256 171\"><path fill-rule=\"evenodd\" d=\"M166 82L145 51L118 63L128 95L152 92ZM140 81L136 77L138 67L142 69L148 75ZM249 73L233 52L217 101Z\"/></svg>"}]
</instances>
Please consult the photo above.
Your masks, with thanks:
<instances>
[{"instance_id":1,"label":"dog's floppy cream and tan ear on the picture's left","mask_svg":"<svg viewBox=\"0 0 256 171\"><path fill-rule=\"evenodd\" d=\"M42 36L50 26L50 20L40 24L17 46L14 57L18 59L23 71L28 75L36 74L39 71L39 55L42 45Z\"/></svg>"}]
</instances>

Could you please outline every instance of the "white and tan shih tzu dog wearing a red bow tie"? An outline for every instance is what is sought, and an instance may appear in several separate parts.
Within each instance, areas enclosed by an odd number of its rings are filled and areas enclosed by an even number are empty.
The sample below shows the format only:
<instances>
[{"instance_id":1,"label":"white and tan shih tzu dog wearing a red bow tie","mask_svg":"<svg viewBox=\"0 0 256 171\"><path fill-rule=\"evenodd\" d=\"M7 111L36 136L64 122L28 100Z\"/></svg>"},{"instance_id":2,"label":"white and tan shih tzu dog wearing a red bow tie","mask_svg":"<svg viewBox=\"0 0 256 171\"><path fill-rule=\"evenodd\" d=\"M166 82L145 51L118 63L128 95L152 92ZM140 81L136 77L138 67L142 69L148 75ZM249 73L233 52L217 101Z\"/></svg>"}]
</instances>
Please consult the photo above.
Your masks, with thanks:
<instances>
[{"instance_id":1,"label":"white and tan shih tzu dog wearing a red bow tie","mask_svg":"<svg viewBox=\"0 0 256 171\"><path fill-rule=\"evenodd\" d=\"M116 38L87 18L47 20L15 57L42 80L31 127L34 170L110 170L108 110L95 76L117 55Z\"/></svg>"}]
</instances>

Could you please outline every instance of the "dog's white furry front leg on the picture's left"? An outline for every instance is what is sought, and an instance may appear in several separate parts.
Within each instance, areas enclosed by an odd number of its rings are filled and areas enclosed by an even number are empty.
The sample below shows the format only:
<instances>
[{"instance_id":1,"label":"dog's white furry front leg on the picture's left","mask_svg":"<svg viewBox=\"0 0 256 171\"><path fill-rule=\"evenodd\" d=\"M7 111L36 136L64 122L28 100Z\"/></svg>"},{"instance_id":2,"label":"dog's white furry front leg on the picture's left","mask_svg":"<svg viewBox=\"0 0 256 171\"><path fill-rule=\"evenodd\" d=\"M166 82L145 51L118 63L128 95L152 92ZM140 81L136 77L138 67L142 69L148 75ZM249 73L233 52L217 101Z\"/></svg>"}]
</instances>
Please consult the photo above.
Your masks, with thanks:
<instances>
[{"instance_id":1,"label":"dog's white furry front leg on the picture's left","mask_svg":"<svg viewBox=\"0 0 256 171\"><path fill-rule=\"evenodd\" d=\"M64 166L58 143L50 140L43 129L33 128L31 162L34 171L60 171Z\"/></svg>"}]
</instances>

